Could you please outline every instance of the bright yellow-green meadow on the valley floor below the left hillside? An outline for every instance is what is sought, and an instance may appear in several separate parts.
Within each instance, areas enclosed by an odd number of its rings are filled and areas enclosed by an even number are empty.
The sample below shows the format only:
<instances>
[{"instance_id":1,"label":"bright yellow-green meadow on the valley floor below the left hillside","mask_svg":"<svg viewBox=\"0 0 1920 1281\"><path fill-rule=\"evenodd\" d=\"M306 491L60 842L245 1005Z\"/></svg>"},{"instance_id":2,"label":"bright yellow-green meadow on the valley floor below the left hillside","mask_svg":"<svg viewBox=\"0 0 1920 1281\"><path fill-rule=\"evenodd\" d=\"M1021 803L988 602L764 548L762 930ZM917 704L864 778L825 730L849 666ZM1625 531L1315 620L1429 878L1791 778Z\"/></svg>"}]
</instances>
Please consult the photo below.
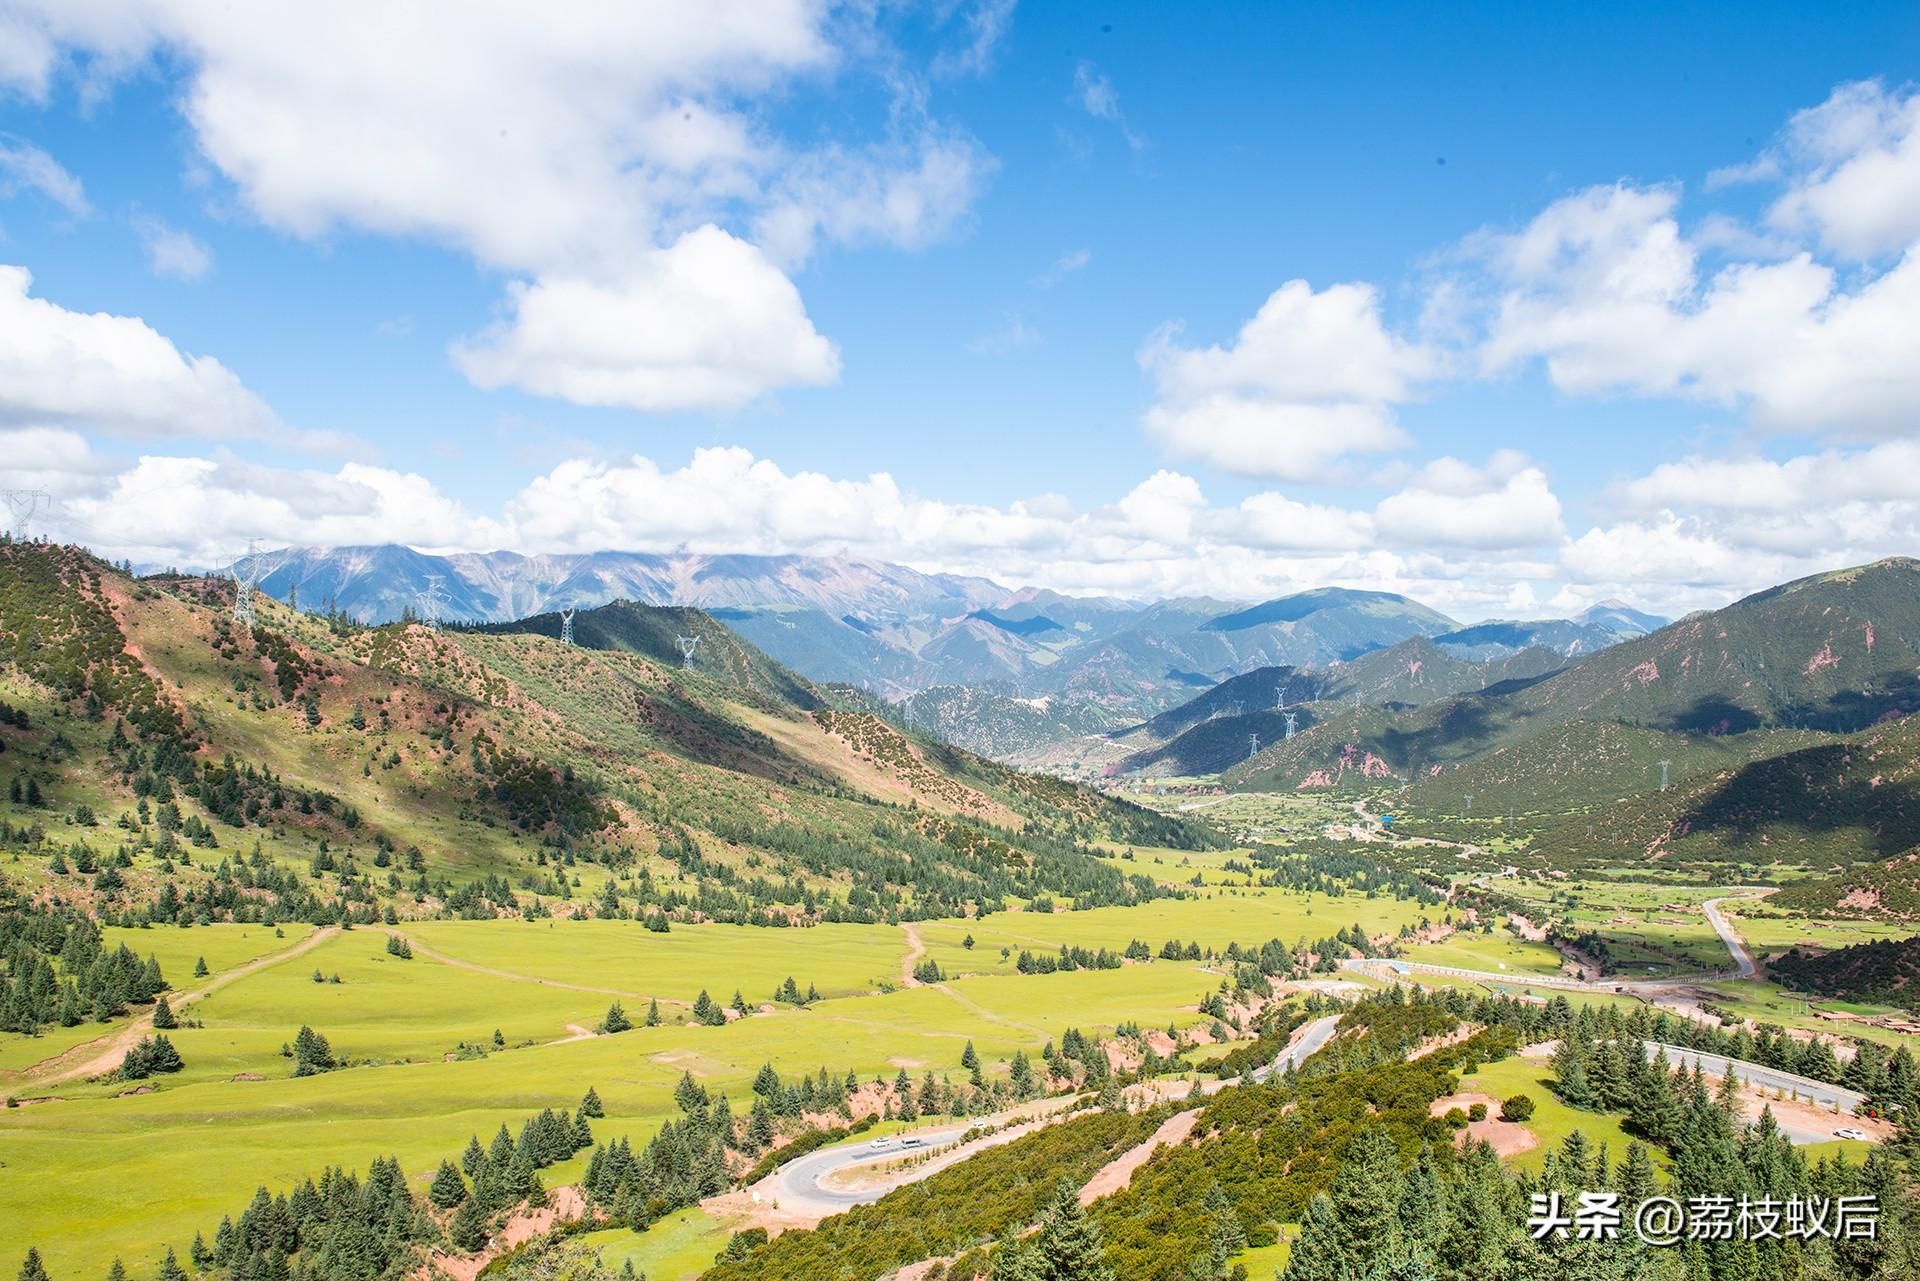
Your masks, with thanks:
<instances>
[{"instance_id":1,"label":"bright yellow-green meadow on the valley floor below the left hillside","mask_svg":"<svg viewBox=\"0 0 1920 1281\"><path fill-rule=\"evenodd\" d=\"M626 937L614 939L574 924L445 922L434 926L432 937L447 955L513 972L541 947L564 956L566 945L551 939L568 930L586 939L586 953L576 953L588 958L580 970L593 970L593 958L634 958L639 968L678 974L666 985L680 993L703 985L732 991L745 985L749 972L770 987L768 976L778 970L785 978L789 968L799 976L860 978L877 964L874 958L904 955L902 933L891 926L758 931L741 939L720 926L655 935L626 924ZM860 939L862 931L872 937ZM198 949L213 937L211 930L142 933L177 933L173 949ZM236 930L227 958L253 941L238 939ZM315 968L342 981L315 983ZM674 1114L672 1087L682 1072L735 1102L749 1097L762 1062L783 1072L854 1068L862 1077L891 1077L904 1066L960 1079L968 1041L991 1070L1004 1072L1014 1051L1033 1054L1069 1026L1092 1031L1125 1020L1192 1022L1196 1001L1213 983L1198 964L1154 962L837 997L726 1027L666 1024L578 1037L568 1024L595 1024L609 1003L603 993L532 976L480 974L419 953L397 960L384 951L382 931L353 930L188 1006L205 1026L173 1033L186 1070L152 1093L111 1097L108 1085L69 1083L52 1091L58 1100L0 1114L0 1221L17 1239L36 1241L56 1275L104 1271L115 1254L134 1275L150 1275L159 1243L179 1248L196 1229L211 1233L221 1214L238 1212L259 1183L284 1187L328 1164L359 1168L388 1152L424 1183L470 1133L484 1137L540 1108L572 1106L588 1085L607 1104L595 1131L643 1141ZM300 1024L326 1033L348 1058L384 1066L292 1079L280 1045ZM459 1041L488 1043L495 1027L509 1049L449 1058ZM236 1079L246 1076L261 1079ZM578 1173L561 1166L547 1181Z\"/></svg>"}]
</instances>

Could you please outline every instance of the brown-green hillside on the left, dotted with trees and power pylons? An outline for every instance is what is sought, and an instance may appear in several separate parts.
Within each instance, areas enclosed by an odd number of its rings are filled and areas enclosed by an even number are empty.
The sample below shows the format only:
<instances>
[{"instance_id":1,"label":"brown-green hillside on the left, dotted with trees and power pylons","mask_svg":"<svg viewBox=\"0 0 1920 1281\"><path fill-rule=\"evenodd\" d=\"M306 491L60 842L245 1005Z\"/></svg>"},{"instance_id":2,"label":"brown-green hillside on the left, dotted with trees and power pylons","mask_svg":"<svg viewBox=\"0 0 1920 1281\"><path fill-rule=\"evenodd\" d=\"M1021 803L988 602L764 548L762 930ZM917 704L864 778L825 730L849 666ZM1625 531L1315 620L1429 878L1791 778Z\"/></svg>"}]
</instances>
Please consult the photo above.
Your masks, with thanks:
<instances>
[{"instance_id":1,"label":"brown-green hillside on the left, dotted with trees and power pylons","mask_svg":"<svg viewBox=\"0 0 1920 1281\"><path fill-rule=\"evenodd\" d=\"M204 851L252 851L263 893L202 910L568 914L588 908L557 870L599 864L593 914L881 920L1150 897L1083 841L1210 839L833 711L699 611L582 613L568 647L553 616L359 628L271 601L250 632L230 593L0 545L6 830L69 866L129 851L48 889L211 903L204 868L230 855ZM693 670L678 634L703 636Z\"/></svg>"}]
</instances>

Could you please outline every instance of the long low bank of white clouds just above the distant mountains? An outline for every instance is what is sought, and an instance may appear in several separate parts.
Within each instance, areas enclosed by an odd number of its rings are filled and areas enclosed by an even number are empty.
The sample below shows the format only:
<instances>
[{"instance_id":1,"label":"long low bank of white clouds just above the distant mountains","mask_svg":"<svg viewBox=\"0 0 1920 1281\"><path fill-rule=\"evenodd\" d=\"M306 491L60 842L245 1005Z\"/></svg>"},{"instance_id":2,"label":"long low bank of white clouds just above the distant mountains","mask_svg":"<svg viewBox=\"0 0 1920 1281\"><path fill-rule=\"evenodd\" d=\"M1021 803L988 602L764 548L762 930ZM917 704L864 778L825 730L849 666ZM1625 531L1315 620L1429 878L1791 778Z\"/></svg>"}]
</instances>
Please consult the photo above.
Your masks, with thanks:
<instances>
[{"instance_id":1,"label":"long low bank of white clouds just above the distant mountains","mask_svg":"<svg viewBox=\"0 0 1920 1281\"><path fill-rule=\"evenodd\" d=\"M232 455L96 451L63 428L0 430L21 476L56 495L44 528L138 563L221 565L250 538L286 545L403 542L428 551L637 551L849 555L1014 586L1165 597L1279 595L1340 582L1405 592L1475 616L1553 567L1436 522L1394 547L1375 513L1256 494L1215 505L1200 482L1158 471L1110 503L1058 495L1004 505L906 492L893 476L787 471L739 447L682 467L643 455L570 459L530 478L499 513L476 513L428 478L348 463L265 467ZM1465 465L1461 465L1465 469ZM1475 501L1496 472L1434 501ZM1473 492L1469 492L1473 490Z\"/></svg>"}]
</instances>

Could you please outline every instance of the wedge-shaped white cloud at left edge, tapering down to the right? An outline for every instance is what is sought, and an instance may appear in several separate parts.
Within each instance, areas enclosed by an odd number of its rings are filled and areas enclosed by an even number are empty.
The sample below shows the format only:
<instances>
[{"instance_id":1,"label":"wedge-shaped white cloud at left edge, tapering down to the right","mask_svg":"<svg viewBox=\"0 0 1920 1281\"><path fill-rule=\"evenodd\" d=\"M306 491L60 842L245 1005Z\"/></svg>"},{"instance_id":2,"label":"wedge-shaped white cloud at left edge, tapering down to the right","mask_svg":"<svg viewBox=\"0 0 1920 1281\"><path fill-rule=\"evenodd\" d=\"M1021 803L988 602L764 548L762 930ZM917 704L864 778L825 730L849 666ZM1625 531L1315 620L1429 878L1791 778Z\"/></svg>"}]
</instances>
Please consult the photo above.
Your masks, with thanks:
<instances>
[{"instance_id":1,"label":"wedge-shaped white cloud at left edge, tapering down to the right","mask_svg":"<svg viewBox=\"0 0 1920 1281\"><path fill-rule=\"evenodd\" d=\"M182 353L138 317L33 298L31 284L25 267L0 267L0 423L294 440L211 355Z\"/></svg>"}]
</instances>

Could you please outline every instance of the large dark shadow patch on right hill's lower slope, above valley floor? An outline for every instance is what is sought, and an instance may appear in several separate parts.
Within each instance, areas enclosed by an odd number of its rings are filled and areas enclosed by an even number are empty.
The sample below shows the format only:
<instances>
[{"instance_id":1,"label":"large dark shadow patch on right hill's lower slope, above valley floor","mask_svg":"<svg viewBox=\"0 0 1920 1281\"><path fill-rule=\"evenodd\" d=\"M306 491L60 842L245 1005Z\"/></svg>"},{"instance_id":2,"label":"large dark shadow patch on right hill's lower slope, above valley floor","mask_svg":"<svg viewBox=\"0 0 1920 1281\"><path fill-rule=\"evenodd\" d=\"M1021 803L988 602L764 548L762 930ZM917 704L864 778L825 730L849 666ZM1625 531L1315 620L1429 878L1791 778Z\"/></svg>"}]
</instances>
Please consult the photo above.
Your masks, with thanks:
<instances>
[{"instance_id":1,"label":"large dark shadow patch on right hill's lower slope, above valley floor","mask_svg":"<svg viewBox=\"0 0 1920 1281\"><path fill-rule=\"evenodd\" d=\"M1887 857L1920 841L1920 793L1876 774L1859 743L1828 743L1741 766L1680 822L1740 847L1776 843L1793 832L1853 832L1862 857Z\"/></svg>"}]
</instances>

